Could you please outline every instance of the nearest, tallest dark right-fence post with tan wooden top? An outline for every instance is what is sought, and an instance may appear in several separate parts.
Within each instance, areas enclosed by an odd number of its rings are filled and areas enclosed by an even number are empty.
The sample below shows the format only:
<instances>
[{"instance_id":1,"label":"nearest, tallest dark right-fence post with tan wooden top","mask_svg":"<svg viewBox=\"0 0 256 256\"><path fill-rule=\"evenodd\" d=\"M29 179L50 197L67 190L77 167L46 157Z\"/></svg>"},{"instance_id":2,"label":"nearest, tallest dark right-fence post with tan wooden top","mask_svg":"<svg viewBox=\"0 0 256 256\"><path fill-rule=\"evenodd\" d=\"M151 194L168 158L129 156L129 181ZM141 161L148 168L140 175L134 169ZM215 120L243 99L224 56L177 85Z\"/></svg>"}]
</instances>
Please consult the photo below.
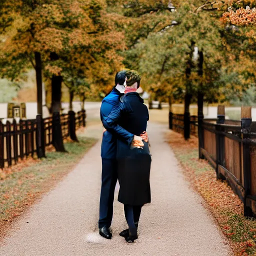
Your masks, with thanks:
<instances>
[{"instance_id":1,"label":"nearest, tallest dark right-fence post with tan wooden top","mask_svg":"<svg viewBox=\"0 0 256 256\"><path fill-rule=\"evenodd\" d=\"M251 107L241 107L241 138L242 138L242 169L244 180L244 197L243 197L243 214L244 216L253 216L252 210L247 206L246 198L250 195L250 146L247 141L250 139L250 124L251 124Z\"/></svg>"}]
</instances>

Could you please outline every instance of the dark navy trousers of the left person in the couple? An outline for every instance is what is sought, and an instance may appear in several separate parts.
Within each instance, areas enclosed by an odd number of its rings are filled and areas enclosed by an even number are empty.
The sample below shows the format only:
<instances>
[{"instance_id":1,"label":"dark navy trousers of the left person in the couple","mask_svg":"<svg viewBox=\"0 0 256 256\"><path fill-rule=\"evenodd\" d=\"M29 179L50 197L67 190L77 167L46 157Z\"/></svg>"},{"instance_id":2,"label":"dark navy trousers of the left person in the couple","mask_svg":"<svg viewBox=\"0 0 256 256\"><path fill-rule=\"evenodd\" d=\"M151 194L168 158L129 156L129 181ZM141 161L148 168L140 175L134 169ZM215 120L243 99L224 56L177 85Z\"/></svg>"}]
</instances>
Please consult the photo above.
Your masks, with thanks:
<instances>
[{"instance_id":1,"label":"dark navy trousers of the left person in the couple","mask_svg":"<svg viewBox=\"0 0 256 256\"><path fill-rule=\"evenodd\" d=\"M114 189L117 182L116 159L101 158L101 191L99 200L98 227L110 227L113 216Z\"/></svg>"}]
</instances>

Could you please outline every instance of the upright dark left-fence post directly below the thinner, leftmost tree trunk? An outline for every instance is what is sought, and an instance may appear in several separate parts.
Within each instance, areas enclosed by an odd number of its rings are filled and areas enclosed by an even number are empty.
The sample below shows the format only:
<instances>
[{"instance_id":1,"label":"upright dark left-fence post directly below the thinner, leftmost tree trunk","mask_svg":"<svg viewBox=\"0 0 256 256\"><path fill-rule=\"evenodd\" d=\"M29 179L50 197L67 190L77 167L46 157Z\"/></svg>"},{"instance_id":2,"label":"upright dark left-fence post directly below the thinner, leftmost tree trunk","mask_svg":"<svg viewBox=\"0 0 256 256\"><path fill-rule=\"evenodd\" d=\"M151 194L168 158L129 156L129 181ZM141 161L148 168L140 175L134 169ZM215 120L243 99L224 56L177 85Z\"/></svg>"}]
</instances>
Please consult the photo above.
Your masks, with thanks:
<instances>
[{"instance_id":1,"label":"upright dark left-fence post directly below the thinner, leftmost tree trunk","mask_svg":"<svg viewBox=\"0 0 256 256\"><path fill-rule=\"evenodd\" d=\"M36 154L38 158L45 157L44 122L41 114L36 115Z\"/></svg>"}]
</instances>

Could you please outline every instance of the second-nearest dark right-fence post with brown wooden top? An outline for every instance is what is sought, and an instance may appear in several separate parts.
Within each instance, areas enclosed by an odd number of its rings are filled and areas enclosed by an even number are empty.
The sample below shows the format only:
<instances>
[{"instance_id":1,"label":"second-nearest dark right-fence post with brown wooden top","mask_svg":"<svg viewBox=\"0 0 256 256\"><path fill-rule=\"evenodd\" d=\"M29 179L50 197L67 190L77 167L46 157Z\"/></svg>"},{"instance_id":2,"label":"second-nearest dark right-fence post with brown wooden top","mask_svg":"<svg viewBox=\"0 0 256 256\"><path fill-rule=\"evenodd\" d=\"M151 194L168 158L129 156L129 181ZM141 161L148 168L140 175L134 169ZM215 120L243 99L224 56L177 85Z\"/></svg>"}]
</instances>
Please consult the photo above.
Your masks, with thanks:
<instances>
[{"instance_id":1,"label":"second-nearest dark right-fence post with brown wooden top","mask_svg":"<svg viewBox=\"0 0 256 256\"><path fill-rule=\"evenodd\" d=\"M225 122L225 106L218 105L217 108L217 125L216 125L216 176L217 179L224 179L224 177L218 172L218 165L224 165L225 157L225 136L220 134L221 131L224 131L224 128L221 124Z\"/></svg>"}]
</instances>

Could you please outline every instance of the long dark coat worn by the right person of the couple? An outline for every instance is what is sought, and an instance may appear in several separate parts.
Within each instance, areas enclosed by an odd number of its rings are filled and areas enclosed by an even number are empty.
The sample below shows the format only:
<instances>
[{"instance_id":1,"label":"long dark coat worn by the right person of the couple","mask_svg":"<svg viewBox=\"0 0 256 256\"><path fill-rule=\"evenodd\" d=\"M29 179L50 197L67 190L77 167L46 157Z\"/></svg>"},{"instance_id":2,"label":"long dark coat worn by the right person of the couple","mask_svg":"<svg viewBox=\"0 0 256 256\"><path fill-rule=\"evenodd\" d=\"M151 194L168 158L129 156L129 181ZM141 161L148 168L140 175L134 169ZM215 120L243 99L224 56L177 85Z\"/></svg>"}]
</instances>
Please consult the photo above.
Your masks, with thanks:
<instances>
[{"instance_id":1,"label":"long dark coat worn by the right person of the couple","mask_svg":"<svg viewBox=\"0 0 256 256\"><path fill-rule=\"evenodd\" d=\"M136 92L129 92L120 98L106 117L109 126L119 124L128 132L139 136L146 130L149 119L148 109ZM151 201L150 165L151 155L148 143L143 148L130 148L122 139L117 141L118 181L120 184L118 201L123 204L143 205Z\"/></svg>"}]
</instances>

